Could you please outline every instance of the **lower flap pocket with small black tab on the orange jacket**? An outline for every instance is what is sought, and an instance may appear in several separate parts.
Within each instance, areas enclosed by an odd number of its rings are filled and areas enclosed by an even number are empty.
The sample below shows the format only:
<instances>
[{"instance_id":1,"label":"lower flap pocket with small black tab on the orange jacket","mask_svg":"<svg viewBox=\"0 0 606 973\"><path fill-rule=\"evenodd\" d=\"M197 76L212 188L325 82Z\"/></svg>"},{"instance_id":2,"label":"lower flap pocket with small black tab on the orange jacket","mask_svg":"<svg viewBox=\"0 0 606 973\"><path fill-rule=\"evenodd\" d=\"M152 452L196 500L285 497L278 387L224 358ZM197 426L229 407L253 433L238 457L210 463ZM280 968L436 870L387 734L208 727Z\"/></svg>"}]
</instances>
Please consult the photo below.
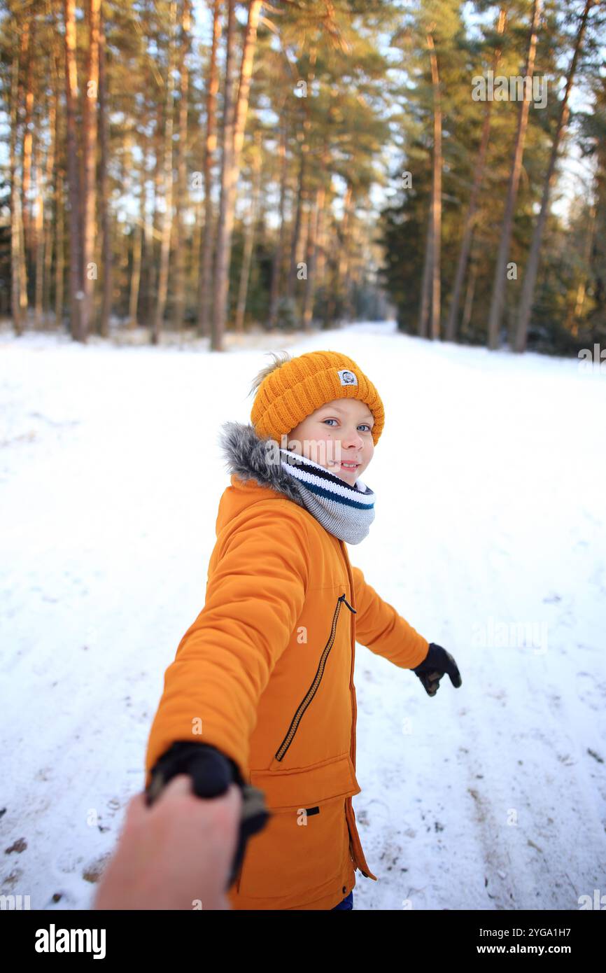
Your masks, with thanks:
<instances>
[{"instance_id":1,"label":"lower flap pocket with small black tab on the orange jacket","mask_svg":"<svg viewBox=\"0 0 606 973\"><path fill-rule=\"evenodd\" d=\"M310 901L315 889L342 876L350 858L345 801L361 789L351 758L299 771L251 771L251 783L265 792L271 814L248 840L238 892L303 901L311 893Z\"/></svg>"}]
</instances>

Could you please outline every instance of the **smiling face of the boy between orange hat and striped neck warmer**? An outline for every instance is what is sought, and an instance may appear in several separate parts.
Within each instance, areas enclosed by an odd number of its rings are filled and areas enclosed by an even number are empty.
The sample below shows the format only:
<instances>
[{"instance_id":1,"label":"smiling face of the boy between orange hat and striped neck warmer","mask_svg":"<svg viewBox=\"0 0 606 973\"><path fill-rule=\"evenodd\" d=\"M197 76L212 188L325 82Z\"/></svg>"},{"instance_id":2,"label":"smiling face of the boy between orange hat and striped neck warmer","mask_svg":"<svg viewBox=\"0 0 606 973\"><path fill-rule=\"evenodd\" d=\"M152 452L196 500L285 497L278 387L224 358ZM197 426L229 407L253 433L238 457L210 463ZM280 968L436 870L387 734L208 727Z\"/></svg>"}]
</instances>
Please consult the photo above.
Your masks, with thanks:
<instances>
[{"instance_id":1,"label":"smiling face of the boy between orange hat and striped neck warmer","mask_svg":"<svg viewBox=\"0 0 606 973\"><path fill-rule=\"evenodd\" d=\"M335 399L291 429L286 448L355 486L373 458L373 426L374 415L364 402Z\"/></svg>"}]
</instances>

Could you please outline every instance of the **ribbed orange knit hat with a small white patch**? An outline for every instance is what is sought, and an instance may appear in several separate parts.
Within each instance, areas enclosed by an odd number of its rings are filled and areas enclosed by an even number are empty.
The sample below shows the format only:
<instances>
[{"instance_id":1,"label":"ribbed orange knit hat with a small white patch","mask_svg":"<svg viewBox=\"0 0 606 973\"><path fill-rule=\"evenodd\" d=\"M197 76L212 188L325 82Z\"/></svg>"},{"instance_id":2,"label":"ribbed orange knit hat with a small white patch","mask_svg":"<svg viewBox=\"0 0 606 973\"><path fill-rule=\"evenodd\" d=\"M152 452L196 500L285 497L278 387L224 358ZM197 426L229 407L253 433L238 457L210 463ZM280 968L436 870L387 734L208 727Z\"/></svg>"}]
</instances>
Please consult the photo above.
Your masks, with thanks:
<instances>
[{"instance_id":1,"label":"ribbed orange knit hat with a small white patch","mask_svg":"<svg viewBox=\"0 0 606 973\"><path fill-rule=\"evenodd\" d=\"M274 368L259 386L250 417L258 436L279 442L334 399L360 399L369 407L376 446L385 422L383 403L370 378L340 351L309 351Z\"/></svg>"}]
</instances>

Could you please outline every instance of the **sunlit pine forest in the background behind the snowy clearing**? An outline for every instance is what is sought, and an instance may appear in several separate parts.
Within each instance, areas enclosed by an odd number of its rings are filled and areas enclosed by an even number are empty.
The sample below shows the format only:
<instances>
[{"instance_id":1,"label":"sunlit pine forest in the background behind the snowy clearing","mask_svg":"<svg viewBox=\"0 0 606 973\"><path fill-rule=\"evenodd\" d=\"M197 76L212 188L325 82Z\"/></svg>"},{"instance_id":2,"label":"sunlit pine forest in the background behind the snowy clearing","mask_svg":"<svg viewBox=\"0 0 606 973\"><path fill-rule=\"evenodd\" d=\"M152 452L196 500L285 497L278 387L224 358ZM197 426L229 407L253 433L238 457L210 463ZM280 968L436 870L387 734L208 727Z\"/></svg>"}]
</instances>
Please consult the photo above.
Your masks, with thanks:
<instances>
[{"instance_id":1,"label":"sunlit pine forest in the background behind the snowy clearing","mask_svg":"<svg viewBox=\"0 0 606 973\"><path fill-rule=\"evenodd\" d=\"M3 0L0 315L606 345L598 0ZM606 357L606 351L604 352Z\"/></svg>"}]
</instances>

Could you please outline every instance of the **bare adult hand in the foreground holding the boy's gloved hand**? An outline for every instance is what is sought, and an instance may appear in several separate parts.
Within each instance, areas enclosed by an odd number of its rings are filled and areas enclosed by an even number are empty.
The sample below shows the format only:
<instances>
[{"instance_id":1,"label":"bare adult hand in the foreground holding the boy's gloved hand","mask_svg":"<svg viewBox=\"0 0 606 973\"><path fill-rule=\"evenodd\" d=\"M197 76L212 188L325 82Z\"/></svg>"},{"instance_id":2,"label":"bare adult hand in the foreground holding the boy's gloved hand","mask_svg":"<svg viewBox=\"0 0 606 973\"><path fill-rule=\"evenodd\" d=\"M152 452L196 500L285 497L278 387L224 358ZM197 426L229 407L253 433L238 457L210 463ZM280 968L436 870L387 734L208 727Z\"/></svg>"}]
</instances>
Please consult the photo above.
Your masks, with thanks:
<instances>
[{"instance_id":1,"label":"bare adult hand in the foreground holding the boy's gloved hand","mask_svg":"<svg viewBox=\"0 0 606 973\"><path fill-rule=\"evenodd\" d=\"M173 777L152 807L144 791L136 794L92 909L230 909L241 806L236 784L205 800L186 774Z\"/></svg>"}]
</instances>

